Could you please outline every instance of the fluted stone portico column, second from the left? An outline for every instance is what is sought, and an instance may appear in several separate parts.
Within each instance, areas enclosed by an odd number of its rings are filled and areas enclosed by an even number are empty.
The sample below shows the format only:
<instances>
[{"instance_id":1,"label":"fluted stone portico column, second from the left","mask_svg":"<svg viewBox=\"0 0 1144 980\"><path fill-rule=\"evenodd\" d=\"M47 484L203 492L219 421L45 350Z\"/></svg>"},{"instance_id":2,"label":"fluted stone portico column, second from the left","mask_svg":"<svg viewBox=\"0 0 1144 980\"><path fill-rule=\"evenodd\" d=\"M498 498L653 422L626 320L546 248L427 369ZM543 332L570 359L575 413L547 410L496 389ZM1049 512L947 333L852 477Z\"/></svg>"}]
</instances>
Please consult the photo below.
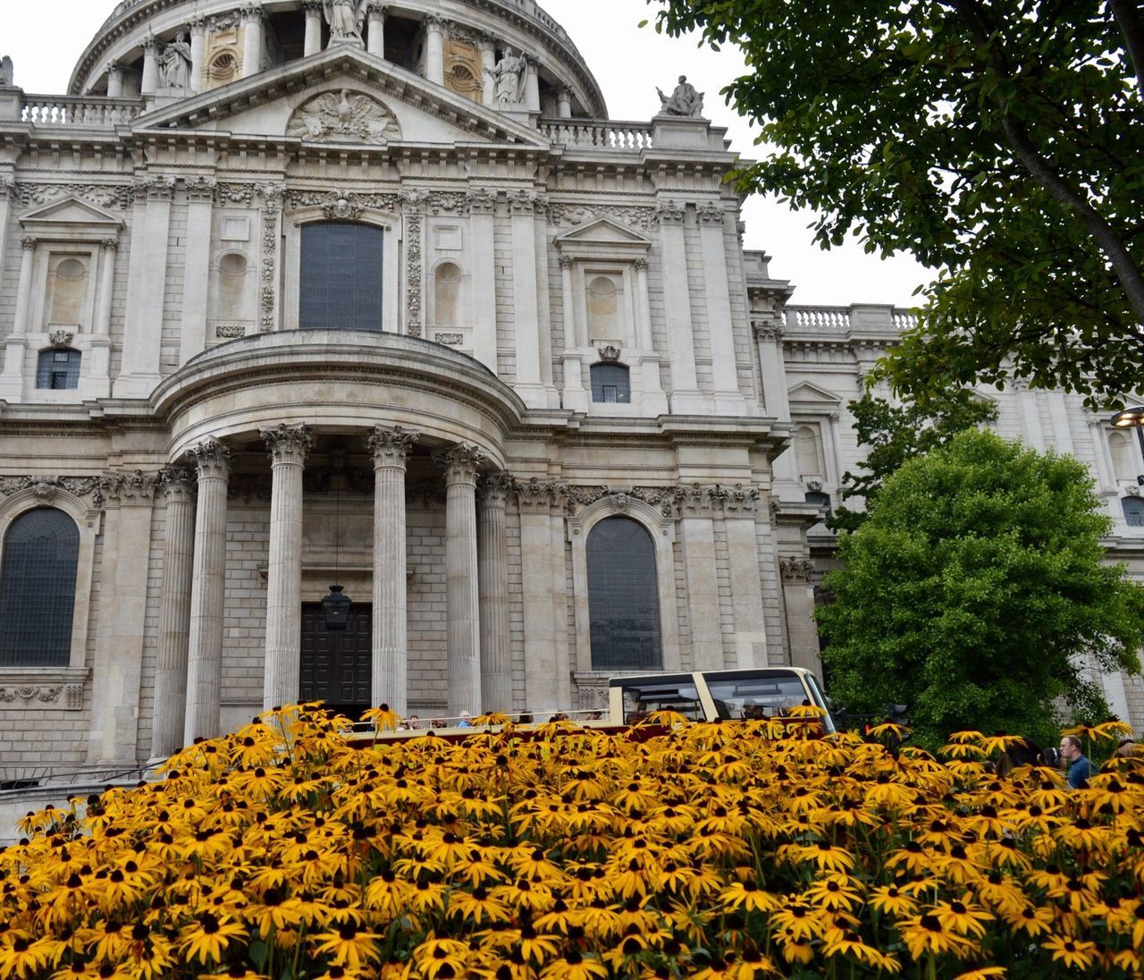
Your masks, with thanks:
<instances>
[{"instance_id":1,"label":"fluted stone portico column, second from the left","mask_svg":"<svg viewBox=\"0 0 1144 980\"><path fill-rule=\"evenodd\" d=\"M191 633L188 642L186 719L183 744L220 734L222 637L227 594L227 485L230 450L207 438L192 446L199 475L191 574Z\"/></svg>"}]
</instances>

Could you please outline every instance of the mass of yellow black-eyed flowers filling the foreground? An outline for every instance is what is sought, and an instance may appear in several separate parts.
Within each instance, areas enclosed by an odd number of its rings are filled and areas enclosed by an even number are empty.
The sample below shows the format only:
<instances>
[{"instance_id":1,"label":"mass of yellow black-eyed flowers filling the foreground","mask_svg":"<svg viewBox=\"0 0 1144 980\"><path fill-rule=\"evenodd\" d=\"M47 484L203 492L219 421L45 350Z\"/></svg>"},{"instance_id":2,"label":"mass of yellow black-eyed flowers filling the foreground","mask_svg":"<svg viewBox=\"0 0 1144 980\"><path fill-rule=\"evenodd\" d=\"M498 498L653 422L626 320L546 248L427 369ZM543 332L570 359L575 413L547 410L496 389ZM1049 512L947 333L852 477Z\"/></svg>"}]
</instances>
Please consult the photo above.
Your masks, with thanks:
<instances>
[{"instance_id":1,"label":"mass of yellow black-eyed flowers filling the foreground","mask_svg":"<svg viewBox=\"0 0 1144 980\"><path fill-rule=\"evenodd\" d=\"M975 733L653 721L351 748L268 714L30 814L0 980L1141 975L1135 759L1072 792Z\"/></svg>"}]
</instances>

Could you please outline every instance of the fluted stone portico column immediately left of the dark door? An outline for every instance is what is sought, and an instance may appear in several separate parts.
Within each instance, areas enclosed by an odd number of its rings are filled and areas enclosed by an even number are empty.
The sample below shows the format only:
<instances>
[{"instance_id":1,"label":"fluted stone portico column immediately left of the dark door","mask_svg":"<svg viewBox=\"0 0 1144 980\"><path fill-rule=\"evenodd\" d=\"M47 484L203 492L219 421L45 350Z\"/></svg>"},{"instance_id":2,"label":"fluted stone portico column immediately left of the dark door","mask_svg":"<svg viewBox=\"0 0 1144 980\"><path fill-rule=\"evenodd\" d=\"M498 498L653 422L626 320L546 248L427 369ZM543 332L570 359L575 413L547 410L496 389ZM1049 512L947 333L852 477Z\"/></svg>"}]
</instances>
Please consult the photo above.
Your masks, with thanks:
<instances>
[{"instance_id":1,"label":"fluted stone portico column immediately left of the dark door","mask_svg":"<svg viewBox=\"0 0 1144 980\"><path fill-rule=\"evenodd\" d=\"M263 429L270 451L270 558L267 567L267 669L262 708L294 704L302 665L302 467L313 445L308 426Z\"/></svg>"}]
</instances>

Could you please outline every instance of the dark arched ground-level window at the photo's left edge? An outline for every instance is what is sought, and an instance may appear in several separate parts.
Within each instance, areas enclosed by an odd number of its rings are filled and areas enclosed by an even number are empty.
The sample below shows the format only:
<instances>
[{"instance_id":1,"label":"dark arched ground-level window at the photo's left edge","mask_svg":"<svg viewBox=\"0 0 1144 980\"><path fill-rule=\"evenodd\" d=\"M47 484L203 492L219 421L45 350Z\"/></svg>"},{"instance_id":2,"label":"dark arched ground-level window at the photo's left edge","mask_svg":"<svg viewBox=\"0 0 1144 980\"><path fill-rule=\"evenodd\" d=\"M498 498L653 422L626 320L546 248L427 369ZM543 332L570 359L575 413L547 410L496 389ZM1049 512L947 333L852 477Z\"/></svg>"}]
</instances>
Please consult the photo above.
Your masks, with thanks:
<instances>
[{"instance_id":1,"label":"dark arched ground-level window at the photo's left edge","mask_svg":"<svg viewBox=\"0 0 1144 980\"><path fill-rule=\"evenodd\" d=\"M21 514L0 563L0 666L55 667L71 661L79 528L63 511Z\"/></svg>"}]
</instances>

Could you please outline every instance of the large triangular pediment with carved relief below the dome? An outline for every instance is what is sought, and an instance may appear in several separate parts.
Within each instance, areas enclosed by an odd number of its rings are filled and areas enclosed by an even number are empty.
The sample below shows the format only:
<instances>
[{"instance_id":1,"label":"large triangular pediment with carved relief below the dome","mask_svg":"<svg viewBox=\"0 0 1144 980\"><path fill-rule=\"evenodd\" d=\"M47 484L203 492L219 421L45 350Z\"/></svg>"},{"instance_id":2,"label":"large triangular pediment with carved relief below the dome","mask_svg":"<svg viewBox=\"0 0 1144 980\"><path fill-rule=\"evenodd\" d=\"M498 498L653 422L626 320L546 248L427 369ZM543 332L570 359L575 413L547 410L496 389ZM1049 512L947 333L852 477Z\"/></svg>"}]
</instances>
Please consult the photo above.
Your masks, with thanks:
<instances>
[{"instance_id":1,"label":"large triangular pediment with carved relief below the dome","mask_svg":"<svg viewBox=\"0 0 1144 980\"><path fill-rule=\"evenodd\" d=\"M549 145L524 122L353 47L232 81L148 112L133 125L337 145Z\"/></svg>"}]
</instances>

